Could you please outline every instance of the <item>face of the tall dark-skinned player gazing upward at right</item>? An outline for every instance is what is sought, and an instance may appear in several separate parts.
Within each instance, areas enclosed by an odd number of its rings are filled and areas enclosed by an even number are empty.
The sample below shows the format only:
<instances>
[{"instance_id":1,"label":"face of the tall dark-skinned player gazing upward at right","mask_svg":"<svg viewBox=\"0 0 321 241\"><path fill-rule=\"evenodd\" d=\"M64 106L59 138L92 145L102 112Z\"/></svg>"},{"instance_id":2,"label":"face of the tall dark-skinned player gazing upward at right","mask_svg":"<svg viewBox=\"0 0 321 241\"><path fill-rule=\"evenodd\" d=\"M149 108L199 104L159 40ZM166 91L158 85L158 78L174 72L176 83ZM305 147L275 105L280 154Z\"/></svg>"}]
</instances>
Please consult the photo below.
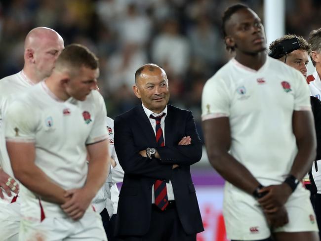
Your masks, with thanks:
<instances>
[{"instance_id":1,"label":"face of the tall dark-skinned player gazing upward at right","mask_svg":"<svg viewBox=\"0 0 321 241\"><path fill-rule=\"evenodd\" d=\"M261 19L255 12L242 8L235 12L226 22L228 45L234 46L236 51L246 54L256 54L266 49L266 38Z\"/></svg>"}]
</instances>

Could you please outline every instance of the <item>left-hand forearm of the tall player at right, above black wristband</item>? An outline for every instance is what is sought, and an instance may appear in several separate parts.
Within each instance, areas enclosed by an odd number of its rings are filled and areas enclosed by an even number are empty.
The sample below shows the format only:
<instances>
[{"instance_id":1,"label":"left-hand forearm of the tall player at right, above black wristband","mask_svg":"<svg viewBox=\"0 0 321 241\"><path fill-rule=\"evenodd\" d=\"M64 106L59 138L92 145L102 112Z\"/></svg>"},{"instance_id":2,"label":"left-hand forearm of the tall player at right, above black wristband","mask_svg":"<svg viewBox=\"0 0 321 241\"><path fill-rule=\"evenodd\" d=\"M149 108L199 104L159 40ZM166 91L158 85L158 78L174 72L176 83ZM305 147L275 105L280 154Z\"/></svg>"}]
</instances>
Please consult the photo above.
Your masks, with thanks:
<instances>
[{"instance_id":1,"label":"left-hand forearm of the tall player at right, above black wristband","mask_svg":"<svg viewBox=\"0 0 321 241\"><path fill-rule=\"evenodd\" d=\"M207 153L214 169L229 183L252 195L259 182L249 170L228 153Z\"/></svg>"}]
</instances>

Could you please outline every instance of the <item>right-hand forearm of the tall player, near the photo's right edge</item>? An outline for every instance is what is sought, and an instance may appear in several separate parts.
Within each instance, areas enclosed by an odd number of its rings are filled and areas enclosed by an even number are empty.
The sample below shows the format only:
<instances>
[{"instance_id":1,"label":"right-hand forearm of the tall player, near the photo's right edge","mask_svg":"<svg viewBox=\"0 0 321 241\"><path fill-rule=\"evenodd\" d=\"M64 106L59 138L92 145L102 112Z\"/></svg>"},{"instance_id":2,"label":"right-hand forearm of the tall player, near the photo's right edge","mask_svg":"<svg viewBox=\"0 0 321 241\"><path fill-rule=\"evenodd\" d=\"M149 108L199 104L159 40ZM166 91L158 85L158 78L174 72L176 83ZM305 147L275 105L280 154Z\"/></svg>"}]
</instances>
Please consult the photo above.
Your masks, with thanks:
<instances>
[{"instance_id":1,"label":"right-hand forearm of the tall player, near the photo's right edge","mask_svg":"<svg viewBox=\"0 0 321 241\"><path fill-rule=\"evenodd\" d=\"M298 153L293 161L289 174L292 174L299 181L308 173L313 161L316 158L317 144L315 138L305 138L297 141Z\"/></svg>"}]
</instances>

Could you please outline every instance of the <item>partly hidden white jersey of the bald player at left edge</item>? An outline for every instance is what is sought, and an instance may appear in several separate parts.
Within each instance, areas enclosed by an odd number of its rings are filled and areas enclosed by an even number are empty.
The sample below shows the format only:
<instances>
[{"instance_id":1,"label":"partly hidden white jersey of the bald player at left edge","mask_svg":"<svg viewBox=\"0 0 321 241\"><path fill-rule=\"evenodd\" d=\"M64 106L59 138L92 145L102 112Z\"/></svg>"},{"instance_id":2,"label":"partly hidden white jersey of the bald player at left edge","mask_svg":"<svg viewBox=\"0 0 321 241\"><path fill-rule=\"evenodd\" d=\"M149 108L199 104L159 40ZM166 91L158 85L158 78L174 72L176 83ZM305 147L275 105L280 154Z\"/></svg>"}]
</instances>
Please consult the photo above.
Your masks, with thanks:
<instances>
[{"instance_id":1,"label":"partly hidden white jersey of the bald player at left edge","mask_svg":"<svg viewBox=\"0 0 321 241\"><path fill-rule=\"evenodd\" d=\"M33 85L34 83L25 76L23 71L0 80L0 166L10 176L13 176L13 172L5 146L2 119L8 104Z\"/></svg>"}]
</instances>

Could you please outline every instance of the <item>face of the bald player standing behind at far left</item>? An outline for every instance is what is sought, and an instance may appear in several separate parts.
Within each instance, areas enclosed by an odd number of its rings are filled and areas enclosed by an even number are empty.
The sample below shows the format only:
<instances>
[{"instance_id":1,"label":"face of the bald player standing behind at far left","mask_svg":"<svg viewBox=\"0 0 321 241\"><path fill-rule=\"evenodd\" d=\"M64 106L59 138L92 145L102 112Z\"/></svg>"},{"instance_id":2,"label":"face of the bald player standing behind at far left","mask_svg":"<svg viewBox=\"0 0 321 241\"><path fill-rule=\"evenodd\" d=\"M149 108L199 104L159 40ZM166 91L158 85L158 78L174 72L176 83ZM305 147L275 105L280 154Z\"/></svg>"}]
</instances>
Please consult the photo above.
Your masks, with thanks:
<instances>
[{"instance_id":1,"label":"face of the bald player standing behind at far left","mask_svg":"<svg viewBox=\"0 0 321 241\"><path fill-rule=\"evenodd\" d=\"M61 38L45 38L35 48L34 60L36 72L42 78L51 75L55 62L64 49L64 41Z\"/></svg>"}]
</instances>

